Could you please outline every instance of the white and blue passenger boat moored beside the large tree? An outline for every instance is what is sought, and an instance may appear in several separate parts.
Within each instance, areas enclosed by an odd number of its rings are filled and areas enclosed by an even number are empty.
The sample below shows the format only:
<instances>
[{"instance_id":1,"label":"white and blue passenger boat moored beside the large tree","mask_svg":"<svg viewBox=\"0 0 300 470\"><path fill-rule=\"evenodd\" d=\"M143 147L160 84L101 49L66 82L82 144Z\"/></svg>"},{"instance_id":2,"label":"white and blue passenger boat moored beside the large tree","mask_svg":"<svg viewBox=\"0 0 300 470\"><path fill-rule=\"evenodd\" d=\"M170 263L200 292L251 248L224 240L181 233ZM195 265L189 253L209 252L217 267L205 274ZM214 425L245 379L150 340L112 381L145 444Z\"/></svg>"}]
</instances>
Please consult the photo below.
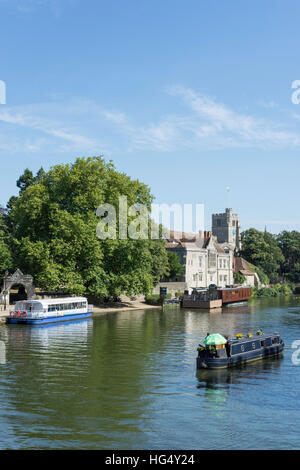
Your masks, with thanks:
<instances>
[{"instance_id":1,"label":"white and blue passenger boat moored beside the large tree","mask_svg":"<svg viewBox=\"0 0 300 470\"><path fill-rule=\"evenodd\" d=\"M6 317L6 323L40 325L90 317L93 306L85 297L21 300Z\"/></svg>"}]
</instances>

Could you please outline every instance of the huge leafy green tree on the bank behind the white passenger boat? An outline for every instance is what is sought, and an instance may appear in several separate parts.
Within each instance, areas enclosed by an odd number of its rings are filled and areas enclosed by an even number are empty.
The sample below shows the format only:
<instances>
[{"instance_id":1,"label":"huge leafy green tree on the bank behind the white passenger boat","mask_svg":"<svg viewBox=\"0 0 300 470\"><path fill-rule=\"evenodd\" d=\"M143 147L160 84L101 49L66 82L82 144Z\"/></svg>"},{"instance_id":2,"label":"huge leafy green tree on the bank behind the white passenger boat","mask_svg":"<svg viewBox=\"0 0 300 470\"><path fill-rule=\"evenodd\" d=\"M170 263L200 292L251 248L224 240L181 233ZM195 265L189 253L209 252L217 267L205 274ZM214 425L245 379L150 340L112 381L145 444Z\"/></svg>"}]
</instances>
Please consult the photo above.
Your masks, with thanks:
<instances>
[{"instance_id":1,"label":"huge leafy green tree on the bank behind the white passenger boat","mask_svg":"<svg viewBox=\"0 0 300 470\"><path fill-rule=\"evenodd\" d=\"M98 206L113 204L118 215L122 195L128 206L141 203L150 210L148 186L102 157L78 158L39 177L26 175L9 219L18 266L37 285L98 297L152 291L168 267L164 241L120 240L118 230L112 240L96 234Z\"/></svg>"}]
</instances>

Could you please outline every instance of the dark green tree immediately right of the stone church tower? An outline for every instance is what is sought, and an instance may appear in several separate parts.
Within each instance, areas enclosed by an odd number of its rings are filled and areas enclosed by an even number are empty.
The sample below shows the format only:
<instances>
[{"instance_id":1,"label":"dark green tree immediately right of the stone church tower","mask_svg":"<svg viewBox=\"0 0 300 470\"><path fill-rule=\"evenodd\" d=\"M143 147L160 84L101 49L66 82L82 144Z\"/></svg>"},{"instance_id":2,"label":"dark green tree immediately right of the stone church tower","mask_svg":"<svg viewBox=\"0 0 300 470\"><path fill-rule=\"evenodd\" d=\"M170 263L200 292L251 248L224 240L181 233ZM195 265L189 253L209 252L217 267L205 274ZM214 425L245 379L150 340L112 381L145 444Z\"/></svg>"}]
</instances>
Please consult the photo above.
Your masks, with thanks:
<instances>
[{"instance_id":1,"label":"dark green tree immediately right of the stone church tower","mask_svg":"<svg viewBox=\"0 0 300 470\"><path fill-rule=\"evenodd\" d=\"M254 228L242 232L241 256L262 269L272 280L278 278L280 263L284 260L276 237Z\"/></svg>"}]
</instances>

